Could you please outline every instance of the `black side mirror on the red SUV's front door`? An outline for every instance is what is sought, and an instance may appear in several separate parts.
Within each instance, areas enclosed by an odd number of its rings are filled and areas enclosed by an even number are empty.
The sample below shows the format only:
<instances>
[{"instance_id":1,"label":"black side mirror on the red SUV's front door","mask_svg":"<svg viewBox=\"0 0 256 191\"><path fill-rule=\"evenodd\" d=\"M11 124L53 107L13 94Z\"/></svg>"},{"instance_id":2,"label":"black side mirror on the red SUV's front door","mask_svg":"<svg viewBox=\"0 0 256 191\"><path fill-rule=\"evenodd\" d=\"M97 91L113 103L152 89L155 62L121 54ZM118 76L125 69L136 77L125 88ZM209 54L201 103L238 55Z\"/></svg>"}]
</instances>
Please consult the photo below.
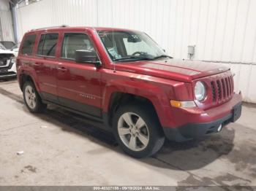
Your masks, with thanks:
<instances>
[{"instance_id":1,"label":"black side mirror on the red SUV's front door","mask_svg":"<svg viewBox=\"0 0 256 191\"><path fill-rule=\"evenodd\" d=\"M101 62L94 50L75 50L75 62L94 63L95 66L101 66Z\"/></svg>"}]
</instances>

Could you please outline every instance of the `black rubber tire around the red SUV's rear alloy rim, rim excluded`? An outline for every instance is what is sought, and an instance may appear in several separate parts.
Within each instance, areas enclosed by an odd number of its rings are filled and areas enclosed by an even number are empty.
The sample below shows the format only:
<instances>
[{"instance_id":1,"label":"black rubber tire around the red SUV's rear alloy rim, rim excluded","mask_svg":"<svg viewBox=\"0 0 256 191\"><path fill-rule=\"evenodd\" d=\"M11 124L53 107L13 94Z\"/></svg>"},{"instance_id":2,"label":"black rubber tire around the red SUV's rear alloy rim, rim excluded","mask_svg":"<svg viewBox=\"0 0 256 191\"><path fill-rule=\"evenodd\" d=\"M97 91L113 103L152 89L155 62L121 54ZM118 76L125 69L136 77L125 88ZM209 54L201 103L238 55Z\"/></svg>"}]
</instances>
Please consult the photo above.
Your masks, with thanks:
<instances>
[{"instance_id":1,"label":"black rubber tire around the red SUV's rear alloy rim, rim excluded","mask_svg":"<svg viewBox=\"0 0 256 191\"><path fill-rule=\"evenodd\" d=\"M26 100L26 88L28 88L28 87L32 88L34 95L35 95L35 98L34 98L35 106L33 106L33 107L31 107ZM47 104L42 103L42 99L40 98L40 95L37 92L36 87L34 87L34 83L30 82L30 81L25 82L25 84L23 85L23 100L24 100L24 103L26 104L26 107L29 109L29 112L31 112L31 113L44 112L47 107Z\"/></svg>"}]
</instances>

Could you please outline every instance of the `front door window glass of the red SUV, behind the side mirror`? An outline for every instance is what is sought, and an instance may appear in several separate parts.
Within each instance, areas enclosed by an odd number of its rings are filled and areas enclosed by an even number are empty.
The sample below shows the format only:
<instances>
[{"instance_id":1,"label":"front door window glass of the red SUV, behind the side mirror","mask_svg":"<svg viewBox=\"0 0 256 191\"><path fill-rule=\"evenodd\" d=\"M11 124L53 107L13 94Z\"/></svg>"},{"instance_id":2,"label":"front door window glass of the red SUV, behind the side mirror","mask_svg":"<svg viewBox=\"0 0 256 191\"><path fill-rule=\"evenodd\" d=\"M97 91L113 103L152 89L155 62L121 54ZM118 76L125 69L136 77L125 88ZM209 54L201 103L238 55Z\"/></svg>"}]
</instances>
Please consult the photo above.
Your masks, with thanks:
<instances>
[{"instance_id":1,"label":"front door window glass of the red SUV, behind the side mirror","mask_svg":"<svg viewBox=\"0 0 256 191\"><path fill-rule=\"evenodd\" d=\"M64 34L61 58L75 59L75 50L94 50L87 34Z\"/></svg>"}]
</instances>

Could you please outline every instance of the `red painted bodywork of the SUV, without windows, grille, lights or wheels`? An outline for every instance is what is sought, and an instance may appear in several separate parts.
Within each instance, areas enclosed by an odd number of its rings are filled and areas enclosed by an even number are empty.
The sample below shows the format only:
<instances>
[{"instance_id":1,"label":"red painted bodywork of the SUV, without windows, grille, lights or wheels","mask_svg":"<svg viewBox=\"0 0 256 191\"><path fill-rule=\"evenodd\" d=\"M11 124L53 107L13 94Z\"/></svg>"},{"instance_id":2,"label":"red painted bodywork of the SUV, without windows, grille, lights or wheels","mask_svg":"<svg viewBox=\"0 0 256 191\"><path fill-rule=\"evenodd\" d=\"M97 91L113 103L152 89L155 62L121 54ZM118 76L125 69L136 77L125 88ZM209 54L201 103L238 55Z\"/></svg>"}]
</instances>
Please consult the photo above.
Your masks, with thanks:
<instances>
[{"instance_id":1,"label":"red painted bodywork of the SUV, without windows, grille, lights or wheels","mask_svg":"<svg viewBox=\"0 0 256 191\"><path fill-rule=\"evenodd\" d=\"M18 79L20 74L29 74L39 92L51 93L64 98L89 104L108 112L110 98L113 93L131 93L148 98L154 105L163 127L176 128L189 122L211 122L232 112L233 106L241 102L241 95L230 95L227 99L213 101L211 80L230 76L228 68L200 61L182 61L176 59L157 61L136 61L132 63L116 63L108 57L95 29L121 30L112 28L52 28L30 31L37 34L36 44L31 56L18 55ZM35 55L40 34L59 33L56 47L56 58L43 58ZM90 36L95 50L102 62L100 68L92 64L80 64L60 58L61 43L64 32L86 33ZM24 38L23 38L24 39ZM21 42L22 47L23 42ZM61 68L61 69L58 69ZM194 86L197 80L207 85L205 101L195 100ZM231 83L231 82L230 82ZM233 79L232 86L233 87ZM231 89L230 89L231 90ZM83 96L93 98L83 98ZM170 100L191 101L197 104L193 109L173 108Z\"/></svg>"}]
</instances>

